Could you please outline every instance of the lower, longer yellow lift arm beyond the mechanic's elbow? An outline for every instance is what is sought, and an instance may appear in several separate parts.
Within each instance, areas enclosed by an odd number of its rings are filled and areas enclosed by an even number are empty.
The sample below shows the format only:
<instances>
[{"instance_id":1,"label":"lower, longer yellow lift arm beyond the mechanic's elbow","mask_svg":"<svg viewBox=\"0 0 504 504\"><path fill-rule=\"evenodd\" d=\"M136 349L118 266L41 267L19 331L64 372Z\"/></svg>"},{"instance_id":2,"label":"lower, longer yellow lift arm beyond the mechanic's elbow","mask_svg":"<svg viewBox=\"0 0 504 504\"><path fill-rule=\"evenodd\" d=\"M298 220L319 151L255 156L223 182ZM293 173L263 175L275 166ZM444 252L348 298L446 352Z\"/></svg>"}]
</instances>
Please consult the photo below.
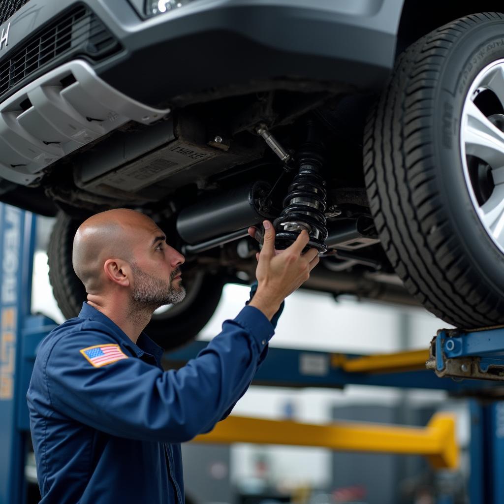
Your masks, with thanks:
<instances>
[{"instance_id":1,"label":"lower, longer yellow lift arm beyond the mechanic's elbow","mask_svg":"<svg viewBox=\"0 0 504 504\"><path fill-rule=\"evenodd\" d=\"M374 423L316 425L230 416L196 443L255 443L329 448L353 452L423 455L438 469L457 469L455 415L436 413L425 428Z\"/></svg>"}]
</instances>

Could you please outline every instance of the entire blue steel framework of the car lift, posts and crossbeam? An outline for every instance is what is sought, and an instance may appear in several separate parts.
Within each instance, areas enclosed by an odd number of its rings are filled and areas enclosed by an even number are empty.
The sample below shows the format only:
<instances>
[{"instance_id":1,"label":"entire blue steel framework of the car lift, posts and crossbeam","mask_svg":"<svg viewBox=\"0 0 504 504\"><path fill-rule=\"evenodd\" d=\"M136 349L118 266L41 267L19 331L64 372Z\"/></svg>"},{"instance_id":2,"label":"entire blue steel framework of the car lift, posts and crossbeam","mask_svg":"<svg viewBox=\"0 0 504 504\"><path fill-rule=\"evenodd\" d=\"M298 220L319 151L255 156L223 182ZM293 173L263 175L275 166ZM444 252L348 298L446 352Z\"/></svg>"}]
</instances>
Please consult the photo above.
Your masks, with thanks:
<instances>
[{"instance_id":1,"label":"entire blue steel framework of the car lift, posts and crossbeam","mask_svg":"<svg viewBox=\"0 0 504 504\"><path fill-rule=\"evenodd\" d=\"M24 471L29 449L26 391L37 346L56 326L51 319L30 313L35 220L28 212L0 203L0 504L26 502ZM325 388L358 384L480 395L483 400L471 401L470 502L504 504L501 476L504 474L504 401L498 400L504 397L498 383L504 379L498 368L504 363L504 329L493 331L482 335L440 332L437 336L440 338L433 340L429 361L429 367L438 376L427 369L346 372L331 365L332 355L327 352L271 348L254 384ZM458 339L447 346L447 338ZM183 365L204 346L205 342L194 342L165 354L164 361L174 367ZM462 367L464 363L466 366ZM456 382L449 377L460 378L460 373L465 378L481 378L482 373L494 382Z\"/></svg>"}]
</instances>

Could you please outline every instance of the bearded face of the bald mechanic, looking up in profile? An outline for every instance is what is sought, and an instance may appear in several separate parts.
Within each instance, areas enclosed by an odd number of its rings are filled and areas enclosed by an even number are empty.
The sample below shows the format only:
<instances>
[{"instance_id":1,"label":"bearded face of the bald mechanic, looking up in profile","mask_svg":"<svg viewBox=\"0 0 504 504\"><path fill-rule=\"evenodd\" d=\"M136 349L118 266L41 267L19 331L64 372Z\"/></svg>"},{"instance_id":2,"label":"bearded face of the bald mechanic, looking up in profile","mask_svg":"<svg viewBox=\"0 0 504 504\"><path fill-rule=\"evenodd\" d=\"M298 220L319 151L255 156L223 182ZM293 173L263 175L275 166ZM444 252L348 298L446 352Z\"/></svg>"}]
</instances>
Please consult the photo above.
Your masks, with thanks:
<instances>
[{"instance_id":1,"label":"bearded face of the bald mechanic, looking up in profile","mask_svg":"<svg viewBox=\"0 0 504 504\"><path fill-rule=\"evenodd\" d=\"M149 227L148 239L136 250L138 261L131 264L132 298L137 304L156 309L184 299L180 272L184 257L166 243L166 236L153 222Z\"/></svg>"}]
</instances>

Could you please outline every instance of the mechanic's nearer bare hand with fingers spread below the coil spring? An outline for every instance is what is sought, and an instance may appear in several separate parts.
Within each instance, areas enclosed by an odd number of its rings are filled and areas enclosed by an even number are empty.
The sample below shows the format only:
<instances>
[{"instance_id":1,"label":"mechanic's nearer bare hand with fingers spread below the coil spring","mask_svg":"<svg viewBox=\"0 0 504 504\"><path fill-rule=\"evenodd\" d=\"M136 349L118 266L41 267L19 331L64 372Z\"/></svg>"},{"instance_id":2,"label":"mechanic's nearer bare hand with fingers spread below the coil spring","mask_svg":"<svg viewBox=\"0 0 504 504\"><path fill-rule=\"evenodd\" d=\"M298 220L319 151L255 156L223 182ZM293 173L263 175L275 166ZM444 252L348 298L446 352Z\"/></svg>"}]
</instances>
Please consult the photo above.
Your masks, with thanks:
<instances>
[{"instance_id":1,"label":"mechanic's nearer bare hand with fingers spread below the coil spring","mask_svg":"<svg viewBox=\"0 0 504 504\"><path fill-rule=\"evenodd\" d=\"M258 288L249 303L260 309L268 319L277 312L282 301L310 276L310 271L319 263L316 248L308 249L309 236L301 231L296 241L281 251L275 250L275 230L270 221L264 221L264 244L258 258L256 277Z\"/></svg>"}]
</instances>

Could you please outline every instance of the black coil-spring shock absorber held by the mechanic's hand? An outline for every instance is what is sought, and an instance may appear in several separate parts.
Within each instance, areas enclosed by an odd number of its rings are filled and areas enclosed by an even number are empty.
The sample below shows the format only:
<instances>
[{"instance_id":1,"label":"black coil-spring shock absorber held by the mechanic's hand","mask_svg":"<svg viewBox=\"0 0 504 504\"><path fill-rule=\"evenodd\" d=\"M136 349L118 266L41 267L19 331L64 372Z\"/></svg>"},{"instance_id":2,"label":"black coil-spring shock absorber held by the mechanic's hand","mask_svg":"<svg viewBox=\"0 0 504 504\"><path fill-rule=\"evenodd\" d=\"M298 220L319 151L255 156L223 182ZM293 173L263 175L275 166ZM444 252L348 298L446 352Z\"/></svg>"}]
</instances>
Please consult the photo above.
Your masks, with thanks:
<instances>
[{"instance_id":1,"label":"black coil-spring shock absorber held by the mechanic's hand","mask_svg":"<svg viewBox=\"0 0 504 504\"><path fill-rule=\"evenodd\" d=\"M325 240L327 192L321 176L324 166L324 147L317 138L313 121L307 122L307 137L295 155L298 173L289 185L283 210L273 225L277 232L275 246L287 248L305 229L309 235L307 247L314 247L319 254L327 252Z\"/></svg>"}]
</instances>

